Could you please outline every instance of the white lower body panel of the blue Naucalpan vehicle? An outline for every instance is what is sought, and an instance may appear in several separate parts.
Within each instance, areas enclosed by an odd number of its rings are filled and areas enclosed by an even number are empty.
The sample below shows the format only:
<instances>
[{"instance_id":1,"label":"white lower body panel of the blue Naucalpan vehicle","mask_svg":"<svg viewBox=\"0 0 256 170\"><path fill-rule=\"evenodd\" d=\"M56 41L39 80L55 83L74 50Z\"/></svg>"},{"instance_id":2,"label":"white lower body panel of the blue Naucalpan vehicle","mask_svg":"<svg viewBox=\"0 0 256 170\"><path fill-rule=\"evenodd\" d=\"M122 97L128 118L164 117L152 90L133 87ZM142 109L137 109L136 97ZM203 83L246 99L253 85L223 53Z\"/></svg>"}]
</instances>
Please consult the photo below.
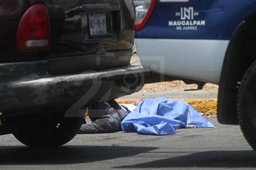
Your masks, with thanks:
<instances>
[{"instance_id":1,"label":"white lower body panel of the blue Naucalpan vehicle","mask_svg":"<svg viewBox=\"0 0 256 170\"><path fill-rule=\"evenodd\" d=\"M136 39L142 65L173 77L218 84L229 40Z\"/></svg>"}]
</instances>

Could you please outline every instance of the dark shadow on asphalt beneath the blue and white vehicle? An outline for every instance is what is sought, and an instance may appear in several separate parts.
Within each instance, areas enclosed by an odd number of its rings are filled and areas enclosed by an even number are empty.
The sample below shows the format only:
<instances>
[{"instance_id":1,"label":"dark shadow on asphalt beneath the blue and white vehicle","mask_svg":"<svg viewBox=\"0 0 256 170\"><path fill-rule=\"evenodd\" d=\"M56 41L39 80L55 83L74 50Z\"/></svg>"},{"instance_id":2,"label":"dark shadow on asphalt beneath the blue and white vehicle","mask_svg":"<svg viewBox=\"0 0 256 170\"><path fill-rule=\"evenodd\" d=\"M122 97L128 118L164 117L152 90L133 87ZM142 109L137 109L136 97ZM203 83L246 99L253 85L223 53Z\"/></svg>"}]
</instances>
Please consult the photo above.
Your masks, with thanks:
<instances>
[{"instance_id":1,"label":"dark shadow on asphalt beneath the blue and white vehicle","mask_svg":"<svg viewBox=\"0 0 256 170\"><path fill-rule=\"evenodd\" d=\"M179 152L183 153L183 152ZM170 153L175 154L175 153ZM254 151L208 151L193 153L181 157L161 159L132 166L115 168L172 168L172 167L218 167L243 168L256 167L256 152Z\"/></svg>"}]
</instances>

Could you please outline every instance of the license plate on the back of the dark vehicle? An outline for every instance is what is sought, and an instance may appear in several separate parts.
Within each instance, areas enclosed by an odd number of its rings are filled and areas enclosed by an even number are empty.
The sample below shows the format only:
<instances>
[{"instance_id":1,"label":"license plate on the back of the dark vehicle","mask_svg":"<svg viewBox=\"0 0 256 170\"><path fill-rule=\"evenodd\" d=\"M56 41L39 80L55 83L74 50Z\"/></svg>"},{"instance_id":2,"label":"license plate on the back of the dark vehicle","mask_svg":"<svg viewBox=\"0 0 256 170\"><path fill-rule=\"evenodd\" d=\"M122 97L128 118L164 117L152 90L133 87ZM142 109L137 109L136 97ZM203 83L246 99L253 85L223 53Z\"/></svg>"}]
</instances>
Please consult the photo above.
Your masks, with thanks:
<instances>
[{"instance_id":1,"label":"license plate on the back of the dark vehicle","mask_svg":"<svg viewBox=\"0 0 256 170\"><path fill-rule=\"evenodd\" d=\"M106 13L89 14L90 35L105 35L106 30Z\"/></svg>"}]
</instances>

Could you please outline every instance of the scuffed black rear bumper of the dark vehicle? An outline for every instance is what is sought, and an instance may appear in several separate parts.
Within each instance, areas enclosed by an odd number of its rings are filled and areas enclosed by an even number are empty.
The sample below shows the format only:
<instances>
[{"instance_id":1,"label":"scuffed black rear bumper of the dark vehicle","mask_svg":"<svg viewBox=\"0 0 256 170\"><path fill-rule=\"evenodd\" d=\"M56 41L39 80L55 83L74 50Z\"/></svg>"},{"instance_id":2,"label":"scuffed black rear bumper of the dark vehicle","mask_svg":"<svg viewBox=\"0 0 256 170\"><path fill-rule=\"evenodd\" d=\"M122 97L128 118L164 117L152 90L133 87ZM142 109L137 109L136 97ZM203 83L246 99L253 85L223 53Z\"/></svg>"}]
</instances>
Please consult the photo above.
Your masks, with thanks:
<instances>
[{"instance_id":1,"label":"scuffed black rear bumper of the dark vehicle","mask_svg":"<svg viewBox=\"0 0 256 170\"><path fill-rule=\"evenodd\" d=\"M63 111L73 105L82 108L95 101L122 97L139 91L149 72L131 65L64 76L52 76L47 70L45 61L0 65L2 117L46 109Z\"/></svg>"}]
</instances>

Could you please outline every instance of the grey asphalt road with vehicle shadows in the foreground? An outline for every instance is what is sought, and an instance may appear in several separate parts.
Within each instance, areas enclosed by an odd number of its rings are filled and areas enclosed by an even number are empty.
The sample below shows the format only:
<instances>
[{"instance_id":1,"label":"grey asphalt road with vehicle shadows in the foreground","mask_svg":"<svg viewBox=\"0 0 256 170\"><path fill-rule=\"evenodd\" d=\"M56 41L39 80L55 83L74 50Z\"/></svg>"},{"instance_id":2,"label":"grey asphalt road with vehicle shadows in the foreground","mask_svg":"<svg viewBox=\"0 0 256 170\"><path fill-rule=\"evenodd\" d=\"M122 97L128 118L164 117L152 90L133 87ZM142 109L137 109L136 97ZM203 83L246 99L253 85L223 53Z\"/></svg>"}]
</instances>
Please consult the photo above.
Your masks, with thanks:
<instances>
[{"instance_id":1,"label":"grey asphalt road with vehicle shadows in the foreground","mask_svg":"<svg viewBox=\"0 0 256 170\"><path fill-rule=\"evenodd\" d=\"M210 121L217 128L184 129L161 137L125 132L77 135L55 149L32 149L4 135L0 169L256 169L256 153L239 126Z\"/></svg>"}]
</instances>

